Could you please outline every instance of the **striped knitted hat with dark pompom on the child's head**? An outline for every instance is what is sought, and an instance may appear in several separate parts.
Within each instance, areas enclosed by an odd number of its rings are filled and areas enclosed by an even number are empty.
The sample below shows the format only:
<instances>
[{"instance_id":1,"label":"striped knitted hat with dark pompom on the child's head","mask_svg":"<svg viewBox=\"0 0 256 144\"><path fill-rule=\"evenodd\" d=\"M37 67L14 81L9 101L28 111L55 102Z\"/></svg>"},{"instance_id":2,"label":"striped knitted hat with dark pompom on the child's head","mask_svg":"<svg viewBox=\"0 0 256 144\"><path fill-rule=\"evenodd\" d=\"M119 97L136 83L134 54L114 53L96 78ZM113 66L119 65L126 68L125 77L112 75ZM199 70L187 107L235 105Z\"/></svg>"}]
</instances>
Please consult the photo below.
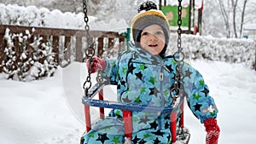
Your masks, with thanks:
<instances>
[{"instance_id":1,"label":"striped knitted hat with dark pompom on the child's head","mask_svg":"<svg viewBox=\"0 0 256 144\"><path fill-rule=\"evenodd\" d=\"M155 3L147 1L142 3L138 9L138 14L131 20L131 31L134 42L140 42L141 32L150 25L159 25L165 32L166 45L169 43L170 29L166 15L162 11L157 10ZM138 45L137 45L138 46ZM166 46L165 46L166 50ZM164 51L166 52L166 51Z\"/></svg>"}]
</instances>

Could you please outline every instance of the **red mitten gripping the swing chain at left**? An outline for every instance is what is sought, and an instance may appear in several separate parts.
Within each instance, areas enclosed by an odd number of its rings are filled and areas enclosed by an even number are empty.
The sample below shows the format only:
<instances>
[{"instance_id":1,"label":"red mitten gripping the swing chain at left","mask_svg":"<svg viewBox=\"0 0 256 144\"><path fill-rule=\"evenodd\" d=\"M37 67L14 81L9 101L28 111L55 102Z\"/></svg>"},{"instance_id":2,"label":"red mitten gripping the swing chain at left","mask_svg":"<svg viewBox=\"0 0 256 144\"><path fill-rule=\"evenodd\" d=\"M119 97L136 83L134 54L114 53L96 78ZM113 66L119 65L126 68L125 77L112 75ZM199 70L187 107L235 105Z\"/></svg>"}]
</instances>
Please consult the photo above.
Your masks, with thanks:
<instances>
[{"instance_id":1,"label":"red mitten gripping the swing chain at left","mask_svg":"<svg viewBox=\"0 0 256 144\"><path fill-rule=\"evenodd\" d=\"M106 67L106 61L104 59L101 59L99 57L93 56L93 66L91 67L91 73L94 73L96 71L103 71L104 68ZM90 60L86 60L86 66L87 69L89 70L90 68Z\"/></svg>"}]
</instances>

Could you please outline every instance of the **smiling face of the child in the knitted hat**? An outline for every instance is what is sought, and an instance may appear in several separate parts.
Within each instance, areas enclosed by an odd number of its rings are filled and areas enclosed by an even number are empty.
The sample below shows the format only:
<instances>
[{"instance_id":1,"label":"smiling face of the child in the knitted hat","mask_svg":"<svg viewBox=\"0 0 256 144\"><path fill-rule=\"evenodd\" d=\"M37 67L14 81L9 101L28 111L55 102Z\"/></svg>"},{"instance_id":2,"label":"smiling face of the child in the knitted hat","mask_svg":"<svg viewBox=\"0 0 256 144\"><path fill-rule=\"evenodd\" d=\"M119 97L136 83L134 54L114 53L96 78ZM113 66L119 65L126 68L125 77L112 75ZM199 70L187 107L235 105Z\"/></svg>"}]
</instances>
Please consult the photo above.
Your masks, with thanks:
<instances>
[{"instance_id":1,"label":"smiling face of the child in the knitted hat","mask_svg":"<svg viewBox=\"0 0 256 144\"><path fill-rule=\"evenodd\" d=\"M140 39L141 47L151 55L158 55L166 43L165 32L161 26L150 25L143 29Z\"/></svg>"}]
</instances>

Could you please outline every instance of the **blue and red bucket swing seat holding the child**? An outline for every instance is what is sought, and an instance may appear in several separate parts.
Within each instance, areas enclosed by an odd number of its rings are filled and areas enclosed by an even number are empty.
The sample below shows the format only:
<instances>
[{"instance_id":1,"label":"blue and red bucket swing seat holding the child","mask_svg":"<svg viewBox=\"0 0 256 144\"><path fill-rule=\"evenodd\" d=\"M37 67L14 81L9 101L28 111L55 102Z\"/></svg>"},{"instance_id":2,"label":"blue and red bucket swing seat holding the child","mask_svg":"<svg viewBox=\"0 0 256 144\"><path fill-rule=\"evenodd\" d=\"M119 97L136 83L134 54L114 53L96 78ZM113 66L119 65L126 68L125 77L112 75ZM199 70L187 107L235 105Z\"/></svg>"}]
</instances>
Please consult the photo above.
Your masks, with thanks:
<instances>
[{"instance_id":1,"label":"blue and red bucket swing seat holding the child","mask_svg":"<svg viewBox=\"0 0 256 144\"><path fill-rule=\"evenodd\" d=\"M101 84L95 84L91 89L88 91L88 94L82 98L82 103L84 104L84 113L85 113L85 125L86 125L86 132L89 132L91 129L91 122L90 122L90 107L99 107L100 111L100 118L104 119L104 108L110 109L119 109L123 112L123 120L124 120L124 129L125 129L125 138L131 140L132 135L132 112L161 112L171 113L171 133L172 133L172 143L179 144L187 144L189 143L190 133L187 128L183 126L183 102L179 108L182 109L181 113L179 114L178 118L180 118L179 123L177 124L177 112L174 110L173 107L148 107L143 106L140 104L133 104L127 102L117 102L117 101L104 101L102 95L102 89L106 85L117 85L116 83L106 80L103 81ZM96 94L99 94L99 99L93 99ZM81 137L80 144L84 143L84 135ZM130 141L131 142L131 141ZM128 142L129 143L129 142Z\"/></svg>"}]
</instances>

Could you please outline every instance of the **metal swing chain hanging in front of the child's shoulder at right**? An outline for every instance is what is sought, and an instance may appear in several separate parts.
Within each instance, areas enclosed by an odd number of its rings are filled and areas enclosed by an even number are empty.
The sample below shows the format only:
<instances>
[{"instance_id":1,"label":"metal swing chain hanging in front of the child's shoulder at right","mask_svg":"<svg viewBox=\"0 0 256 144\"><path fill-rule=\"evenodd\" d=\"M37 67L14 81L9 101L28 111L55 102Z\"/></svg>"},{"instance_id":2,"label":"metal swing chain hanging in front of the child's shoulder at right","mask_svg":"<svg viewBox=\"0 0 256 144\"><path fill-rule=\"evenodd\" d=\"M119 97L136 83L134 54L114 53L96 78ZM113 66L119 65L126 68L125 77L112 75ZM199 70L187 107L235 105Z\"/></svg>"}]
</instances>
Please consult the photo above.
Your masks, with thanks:
<instances>
[{"instance_id":1,"label":"metal swing chain hanging in front of the child's shoulder at right","mask_svg":"<svg viewBox=\"0 0 256 144\"><path fill-rule=\"evenodd\" d=\"M183 60L184 60L184 53L183 53L183 48L181 47L181 34L182 34L182 0L177 0L178 1L178 6L177 6L177 52L174 53L173 58L174 60L177 61L177 66L176 66L176 75L174 77L174 88L171 89L170 93L172 95L172 106L176 106L176 101L177 98L183 94L183 73L182 73L182 68L183 68ZM178 102L178 101L177 101Z\"/></svg>"}]
</instances>

